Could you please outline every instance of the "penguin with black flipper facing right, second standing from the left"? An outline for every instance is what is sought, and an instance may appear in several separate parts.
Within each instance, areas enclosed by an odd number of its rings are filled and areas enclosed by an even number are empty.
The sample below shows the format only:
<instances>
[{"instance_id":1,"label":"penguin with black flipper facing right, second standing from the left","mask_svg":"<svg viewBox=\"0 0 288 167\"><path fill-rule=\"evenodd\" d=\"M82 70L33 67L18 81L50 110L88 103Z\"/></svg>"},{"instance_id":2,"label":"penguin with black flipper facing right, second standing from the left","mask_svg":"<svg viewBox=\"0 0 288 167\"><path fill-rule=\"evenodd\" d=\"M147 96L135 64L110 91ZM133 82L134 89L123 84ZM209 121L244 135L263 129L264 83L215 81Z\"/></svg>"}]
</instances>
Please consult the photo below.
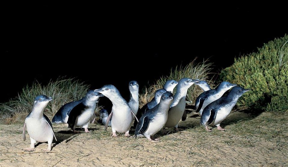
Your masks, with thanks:
<instances>
[{"instance_id":1,"label":"penguin with black flipper facing right, second standing from the left","mask_svg":"<svg viewBox=\"0 0 288 167\"><path fill-rule=\"evenodd\" d=\"M103 95L95 93L93 90L88 91L84 100L70 111L67 123L74 133L80 133L75 130L76 127L82 127L85 129L85 133L91 133L88 125L93 122L92 118L95 117L94 111L99 97L103 97Z\"/></svg>"}]
</instances>

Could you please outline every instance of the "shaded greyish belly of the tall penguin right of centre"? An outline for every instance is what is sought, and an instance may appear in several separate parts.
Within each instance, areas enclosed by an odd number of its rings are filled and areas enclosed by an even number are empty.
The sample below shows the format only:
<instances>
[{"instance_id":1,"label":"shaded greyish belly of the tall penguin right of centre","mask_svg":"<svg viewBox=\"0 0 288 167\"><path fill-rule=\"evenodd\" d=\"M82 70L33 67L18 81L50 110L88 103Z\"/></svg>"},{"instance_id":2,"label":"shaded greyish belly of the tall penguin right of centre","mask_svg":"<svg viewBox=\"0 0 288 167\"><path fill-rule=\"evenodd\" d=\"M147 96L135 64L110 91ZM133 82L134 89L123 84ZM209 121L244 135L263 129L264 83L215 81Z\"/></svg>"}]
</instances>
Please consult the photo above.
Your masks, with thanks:
<instances>
[{"instance_id":1,"label":"shaded greyish belly of the tall penguin right of centre","mask_svg":"<svg viewBox=\"0 0 288 167\"><path fill-rule=\"evenodd\" d=\"M168 119L165 124L165 127L171 128L177 125L182 118L182 115L185 110L185 100L182 100L176 106L172 107L168 111Z\"/></svg>"}]
</instances>

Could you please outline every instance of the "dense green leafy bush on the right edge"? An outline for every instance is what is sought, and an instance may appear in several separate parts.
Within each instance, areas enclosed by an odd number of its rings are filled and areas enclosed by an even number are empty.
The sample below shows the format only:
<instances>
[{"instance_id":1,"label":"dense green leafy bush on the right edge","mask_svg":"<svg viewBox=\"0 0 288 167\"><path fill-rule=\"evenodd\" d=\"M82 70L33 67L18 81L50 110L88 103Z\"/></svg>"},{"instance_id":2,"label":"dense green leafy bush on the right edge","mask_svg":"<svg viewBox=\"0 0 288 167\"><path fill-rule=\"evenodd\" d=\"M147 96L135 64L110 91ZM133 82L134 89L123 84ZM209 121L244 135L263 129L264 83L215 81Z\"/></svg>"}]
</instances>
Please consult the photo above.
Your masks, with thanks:
<instances>
[{"instance_id":1,"label":"dense green leafy bush on the right edge","mask_svg":"<svg viewBox=\"0 0 288 167\"><path fill-rule=\"evenodd\" d=\"M274 39L257 53L235 59L220 73L220 79L251 88L239 105L271 111L288 110L288 36Z\"/></svg>"}]
</instances>

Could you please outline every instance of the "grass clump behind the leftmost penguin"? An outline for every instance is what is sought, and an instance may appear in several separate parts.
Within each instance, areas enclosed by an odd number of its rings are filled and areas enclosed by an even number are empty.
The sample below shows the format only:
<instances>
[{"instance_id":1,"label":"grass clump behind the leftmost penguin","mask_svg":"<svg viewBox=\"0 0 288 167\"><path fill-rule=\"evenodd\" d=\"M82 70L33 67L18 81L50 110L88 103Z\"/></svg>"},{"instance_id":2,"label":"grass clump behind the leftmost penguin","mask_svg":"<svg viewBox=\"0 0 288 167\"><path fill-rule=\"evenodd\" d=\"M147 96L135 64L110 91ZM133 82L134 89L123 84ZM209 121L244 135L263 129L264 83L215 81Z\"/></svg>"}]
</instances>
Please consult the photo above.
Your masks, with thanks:
<instances>
[{"instance_id":1,"label":"grass clump behind the leftmost penguin","mask_svg":"<svg viewBox=\"0 0 288 167\"><path fill-rule=\"evenodd\" d=\"M15 123L24 122L25 117L31 111L36 96L45 94L52 96L44 113L52 119L58 109L67 102L81 99L85 96L90 85L85 85L76 79L58 78L50 81L48 85L42 86L35 81L31 86L27 85L22 92L8 102L0 104L1 122Z\"/></svg>"}]
</instances>

